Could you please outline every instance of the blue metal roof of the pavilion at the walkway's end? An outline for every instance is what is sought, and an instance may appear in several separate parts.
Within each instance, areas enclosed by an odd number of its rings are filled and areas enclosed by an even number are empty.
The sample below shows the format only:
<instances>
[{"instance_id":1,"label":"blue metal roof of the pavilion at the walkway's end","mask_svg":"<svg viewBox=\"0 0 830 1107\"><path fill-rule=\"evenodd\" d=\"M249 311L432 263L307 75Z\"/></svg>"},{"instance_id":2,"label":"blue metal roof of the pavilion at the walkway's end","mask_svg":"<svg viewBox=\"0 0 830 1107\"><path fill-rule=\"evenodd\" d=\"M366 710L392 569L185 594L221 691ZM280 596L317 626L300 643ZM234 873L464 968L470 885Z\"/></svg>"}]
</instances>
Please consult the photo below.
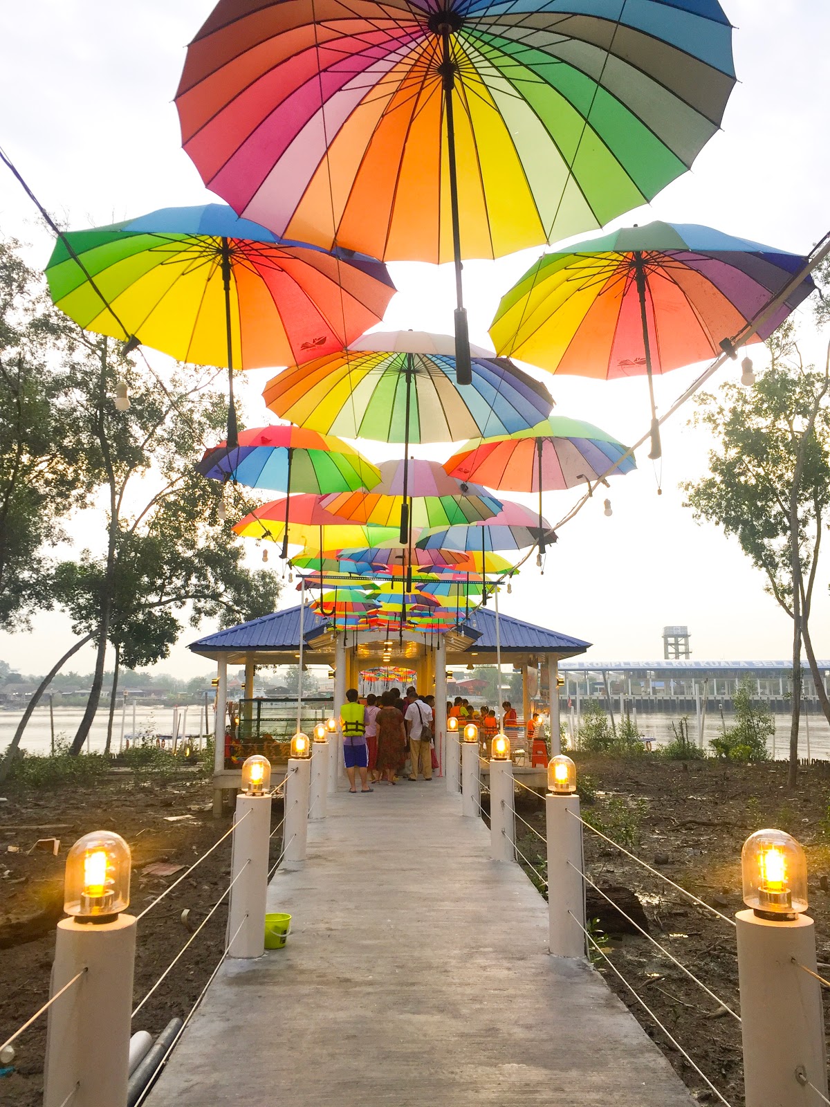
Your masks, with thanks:
<instances>
[{"instance_id":1,"label":"blue metal roof of the pavilion at the walkway's end","mask_svg":"<svg viewBox=\"0 0 830 1107\"><path fill-rule=\"evenodd\" d=\"M311 607L305 607L305 619L303 622L303 638L305 640L328 629L329 621L321 619ZM459 628L464 634L465 628L471 631L471 638L476 639L476 650L496 649L496 612L489 608L479 608L471 611L465 623ZM560 634L558 631L546 630L544 627L535 627L532 623L522 622L521 619L513 619L511 615L502 615L499 612L499 631L501 638L501 649L505 653L540 651L559 653L560 655L573 655L584 653L591 645L579 638L571 638L568 634ZM239 623L237 627L229 627L227 630L217 631L200 638L197 642L191 642L188 649L194 653L220 653L224 651L237 652L245 650L299 650L300 648L300 608L287 608L284 611L274 611L273 614L262 615L261 619L253 619L251 622Z\"/></svg>"}]
</instances>

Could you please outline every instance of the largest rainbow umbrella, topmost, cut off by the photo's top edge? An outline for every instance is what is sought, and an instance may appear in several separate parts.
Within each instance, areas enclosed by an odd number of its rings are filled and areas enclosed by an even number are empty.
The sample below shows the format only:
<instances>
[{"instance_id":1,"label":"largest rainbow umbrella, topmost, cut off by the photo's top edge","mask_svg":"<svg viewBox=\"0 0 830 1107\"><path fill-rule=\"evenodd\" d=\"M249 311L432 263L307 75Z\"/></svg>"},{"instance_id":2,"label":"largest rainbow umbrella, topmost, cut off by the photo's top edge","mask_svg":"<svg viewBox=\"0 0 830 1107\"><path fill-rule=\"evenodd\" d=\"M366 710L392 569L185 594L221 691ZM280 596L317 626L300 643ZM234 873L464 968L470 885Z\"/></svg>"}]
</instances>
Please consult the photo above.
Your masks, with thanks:
<instances>
[{"instance_id":1,"label":"largest rainbow umbrella, topmost, cut off by the photo's top edge","mask_svg":"<svg viewBox=\"0 0 830 1107\"><path fill-rule=\"evenodd\" d=\"M176 95L201 178L280 235L461 259L603 226L684 173L735 83L717 0L220 0Z\"/></svg>"}]
</instances>

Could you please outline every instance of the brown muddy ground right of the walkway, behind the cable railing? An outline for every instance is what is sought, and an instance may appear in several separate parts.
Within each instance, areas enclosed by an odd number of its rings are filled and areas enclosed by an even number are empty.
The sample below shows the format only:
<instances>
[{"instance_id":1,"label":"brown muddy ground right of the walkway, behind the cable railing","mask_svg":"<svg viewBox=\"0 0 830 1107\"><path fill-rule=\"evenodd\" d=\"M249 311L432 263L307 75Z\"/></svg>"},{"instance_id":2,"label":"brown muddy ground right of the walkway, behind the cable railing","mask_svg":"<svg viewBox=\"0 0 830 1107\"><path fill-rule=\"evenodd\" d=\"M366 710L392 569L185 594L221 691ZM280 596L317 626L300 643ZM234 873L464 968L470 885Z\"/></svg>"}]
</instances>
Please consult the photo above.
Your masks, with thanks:
<instances>
[{"instance_id":1,"label":"brown muddy ground right of the walkway, behind the cable railing","mask_svg":"<svg viewBox=\"0 0 830 1107\"><path fill-rule=\"evenodd\" d=\"M632 852L728 918L744 907L740 848L747 836L761 827L778 827L797 837L807 851L809 913L816 920L818 959L830 969L830 775L826 770L820 766L802 769L798 787L790 792L782 763L725 766L714 761L681 763L650 756L612 759L577 755L575 759L579 778L587 775L595 789L593 803L582 804L584 817L595 819L614 840L626 839ZM519 792L517 811L544 834L541 799ZM543 861L544 846L518 820L517 844L529 860ZM637 917L641 907L651 935L739 1014L734 928L696 907L590 829L584 831L584 850L590 880L621 903L625 903L626 890L633 892L635 898L624 906L626 913L642 925L642 915ZM729 1104L743 1107L739 1023L647 939L636 932L622 933L626 924L619 912L590 888L588 892L589 918L599 917L591 930L603 952ZM599 954L594 962L695 1097L717 1103ZM830 1025L829 1000L830 993L824 991L826 1026Z\"/></svg>"}]
</instances>

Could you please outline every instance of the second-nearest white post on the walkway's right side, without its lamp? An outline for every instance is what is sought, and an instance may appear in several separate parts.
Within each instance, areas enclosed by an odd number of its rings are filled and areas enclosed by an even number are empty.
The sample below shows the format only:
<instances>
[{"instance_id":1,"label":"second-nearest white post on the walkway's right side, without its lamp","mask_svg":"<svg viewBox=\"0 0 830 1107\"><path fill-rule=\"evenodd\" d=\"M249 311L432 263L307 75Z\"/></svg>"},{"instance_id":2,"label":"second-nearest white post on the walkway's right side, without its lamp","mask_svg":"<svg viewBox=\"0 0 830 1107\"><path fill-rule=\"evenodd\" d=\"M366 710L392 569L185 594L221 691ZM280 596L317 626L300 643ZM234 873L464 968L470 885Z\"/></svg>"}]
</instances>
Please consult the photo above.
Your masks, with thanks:
<instances>
[{"instance_id":1,"label":"second-nearest white post on the walkway's right side, without its lamp","mask_svg":"<svg viewBox=\"0 0 830 1107\"><path fill-rule=\"evenodd\" d=\"M560 958L584 958L585 892L582 880L582 824L579 796L548 795L549 949ZM577 921L574 921L577 920Z\"/></svg>"}]
</instances>

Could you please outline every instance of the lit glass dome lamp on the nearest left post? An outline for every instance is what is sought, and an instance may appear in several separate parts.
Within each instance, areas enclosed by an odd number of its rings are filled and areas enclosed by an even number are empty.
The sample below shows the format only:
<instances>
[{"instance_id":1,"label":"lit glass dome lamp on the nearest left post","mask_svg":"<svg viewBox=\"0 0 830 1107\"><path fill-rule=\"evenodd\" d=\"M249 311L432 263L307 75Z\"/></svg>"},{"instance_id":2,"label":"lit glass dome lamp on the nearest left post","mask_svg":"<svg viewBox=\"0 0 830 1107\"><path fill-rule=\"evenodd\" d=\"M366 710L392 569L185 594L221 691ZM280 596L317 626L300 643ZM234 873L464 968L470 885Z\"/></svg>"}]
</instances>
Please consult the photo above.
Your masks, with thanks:
<instances>
[{"instance_id":1,"label":"lit glass dome lamp on the nearest left post","mask_svg":"<svg viewBox=\"0 0 830 1107\"><path fill-rule=\"evenodd\" d=\"M129 907L129 846L112 830L79 838L66 856L63 910L77 922L113 922Z\"/></svg>"}]
</instances>

